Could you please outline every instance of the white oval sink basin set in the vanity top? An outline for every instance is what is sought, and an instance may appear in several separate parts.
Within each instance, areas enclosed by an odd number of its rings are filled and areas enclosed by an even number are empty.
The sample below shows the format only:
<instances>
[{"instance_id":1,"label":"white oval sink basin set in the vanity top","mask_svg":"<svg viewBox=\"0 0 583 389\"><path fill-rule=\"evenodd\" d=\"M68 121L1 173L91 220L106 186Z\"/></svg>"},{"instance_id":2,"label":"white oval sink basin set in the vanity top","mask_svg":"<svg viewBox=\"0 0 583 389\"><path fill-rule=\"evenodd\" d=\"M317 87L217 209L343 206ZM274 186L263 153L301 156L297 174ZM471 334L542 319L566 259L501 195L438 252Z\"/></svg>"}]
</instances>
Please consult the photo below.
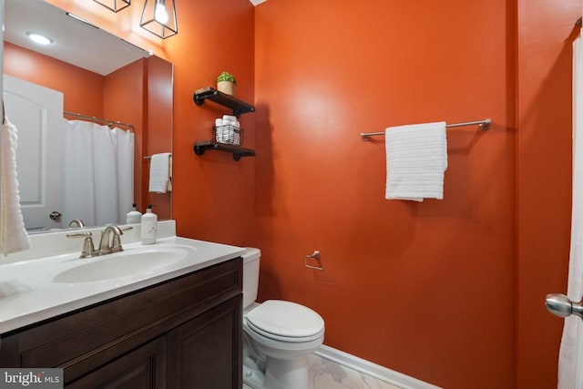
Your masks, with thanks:
<instances>
[{"instance_id":1,"label":"white oval sink basin set in the vanity top","mask_svg":"<svg viewBox=\"0 0 583 389\"><path fill-rule=\"evenodd\" d=\"M82 264L61 271L55 275L53 282L78 283L97 282L122 277L143 275L159 271L178 261L184 260L190 248L164 247L156 249L137 249L122 251L99 257L79 259Z\"/></svg>"}]
</instances>

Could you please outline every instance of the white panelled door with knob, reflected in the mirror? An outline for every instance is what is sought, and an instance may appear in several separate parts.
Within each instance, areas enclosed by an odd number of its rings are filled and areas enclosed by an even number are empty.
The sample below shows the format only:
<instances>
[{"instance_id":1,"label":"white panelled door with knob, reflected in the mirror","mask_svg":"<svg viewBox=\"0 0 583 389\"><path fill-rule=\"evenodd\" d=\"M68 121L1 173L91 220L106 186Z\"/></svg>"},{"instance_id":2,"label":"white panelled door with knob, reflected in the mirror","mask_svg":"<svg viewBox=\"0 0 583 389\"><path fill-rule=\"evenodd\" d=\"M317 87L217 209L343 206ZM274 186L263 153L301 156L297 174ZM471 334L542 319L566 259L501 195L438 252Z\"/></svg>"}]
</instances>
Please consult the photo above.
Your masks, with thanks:
<instances>
[{"instance_id":1,"label":"white panelled door with knob, reflected in the mirror","mask_svg":"<svg viewBox=\"0 0 583 389\"><path fill-rule=\"evenodd\" d=\"M18 130L16 173L26 230L61 228L63 93L4 75L5 116Z\"/></svg>"}]
</instances>

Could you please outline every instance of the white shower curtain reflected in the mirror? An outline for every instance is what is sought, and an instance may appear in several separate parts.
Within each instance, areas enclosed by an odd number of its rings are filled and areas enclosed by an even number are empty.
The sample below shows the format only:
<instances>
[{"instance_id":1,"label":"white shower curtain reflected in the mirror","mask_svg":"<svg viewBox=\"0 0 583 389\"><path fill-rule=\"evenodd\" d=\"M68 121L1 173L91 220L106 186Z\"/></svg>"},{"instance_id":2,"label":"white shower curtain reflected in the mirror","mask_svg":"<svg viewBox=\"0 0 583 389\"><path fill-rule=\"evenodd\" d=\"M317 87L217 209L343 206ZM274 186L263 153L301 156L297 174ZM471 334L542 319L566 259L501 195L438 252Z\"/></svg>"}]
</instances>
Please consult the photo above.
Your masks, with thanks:
<instances>
[{"instance_id":1,"label":"white shower curtain reflected in the mirror","mask_svg":"<svg viewBox=\"0 0 583 389\"><path fill-rule=\"evenodd\" d=\"M63 220L123 224L134 200L134 134L65 120Z\"/></svg>"}]
</instances>

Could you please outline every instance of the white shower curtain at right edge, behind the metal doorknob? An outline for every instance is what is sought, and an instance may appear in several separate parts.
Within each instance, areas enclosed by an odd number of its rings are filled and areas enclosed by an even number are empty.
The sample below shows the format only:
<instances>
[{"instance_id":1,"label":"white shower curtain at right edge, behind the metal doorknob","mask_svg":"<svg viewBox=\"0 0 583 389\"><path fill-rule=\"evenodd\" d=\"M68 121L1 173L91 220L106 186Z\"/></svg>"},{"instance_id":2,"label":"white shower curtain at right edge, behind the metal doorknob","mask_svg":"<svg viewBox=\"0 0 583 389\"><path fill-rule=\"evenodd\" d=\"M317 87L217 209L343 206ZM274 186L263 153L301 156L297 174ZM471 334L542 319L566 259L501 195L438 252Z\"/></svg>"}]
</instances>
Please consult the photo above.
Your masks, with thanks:
<instances>
[{"instance_id":1,"label":"white shower curtain at right edge, behind the metal doorknob","mask_svg":"<svg viewBox=\"0 0 583 389\"><path fill-rule=\"evenodd\" d=\"M568 298L583 296L583 43L573 43L573 203L571 250L568 265ZM583 389L583 321L565 319L558 355L558 388Z\"/></svg>"}]
</instances>

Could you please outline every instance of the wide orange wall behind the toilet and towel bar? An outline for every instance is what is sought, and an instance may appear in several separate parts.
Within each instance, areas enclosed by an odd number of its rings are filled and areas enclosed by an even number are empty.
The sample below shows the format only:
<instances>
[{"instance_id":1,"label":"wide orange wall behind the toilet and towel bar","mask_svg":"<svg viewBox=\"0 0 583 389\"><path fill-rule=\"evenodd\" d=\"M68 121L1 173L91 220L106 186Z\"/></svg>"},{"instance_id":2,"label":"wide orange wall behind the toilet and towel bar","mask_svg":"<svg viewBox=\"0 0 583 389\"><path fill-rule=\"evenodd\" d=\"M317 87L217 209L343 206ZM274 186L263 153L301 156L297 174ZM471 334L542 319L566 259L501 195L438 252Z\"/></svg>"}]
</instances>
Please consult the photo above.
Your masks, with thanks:
<instances>
[{"instance_id":1,"label":"wide orange wall behind the toilet and towel bar","mask_svg":"<svg viewBox=\"0 0 583 389\"><path fill-rule=\"evenodd\" d=\"M269 0L256 8L262 299L324 343L430 383L514 387L515 10L503 0ZM384 138L448 130L445 199L384 200ZM303 266L319 250L325 271Z\"/></svg>"}]
</instances>

